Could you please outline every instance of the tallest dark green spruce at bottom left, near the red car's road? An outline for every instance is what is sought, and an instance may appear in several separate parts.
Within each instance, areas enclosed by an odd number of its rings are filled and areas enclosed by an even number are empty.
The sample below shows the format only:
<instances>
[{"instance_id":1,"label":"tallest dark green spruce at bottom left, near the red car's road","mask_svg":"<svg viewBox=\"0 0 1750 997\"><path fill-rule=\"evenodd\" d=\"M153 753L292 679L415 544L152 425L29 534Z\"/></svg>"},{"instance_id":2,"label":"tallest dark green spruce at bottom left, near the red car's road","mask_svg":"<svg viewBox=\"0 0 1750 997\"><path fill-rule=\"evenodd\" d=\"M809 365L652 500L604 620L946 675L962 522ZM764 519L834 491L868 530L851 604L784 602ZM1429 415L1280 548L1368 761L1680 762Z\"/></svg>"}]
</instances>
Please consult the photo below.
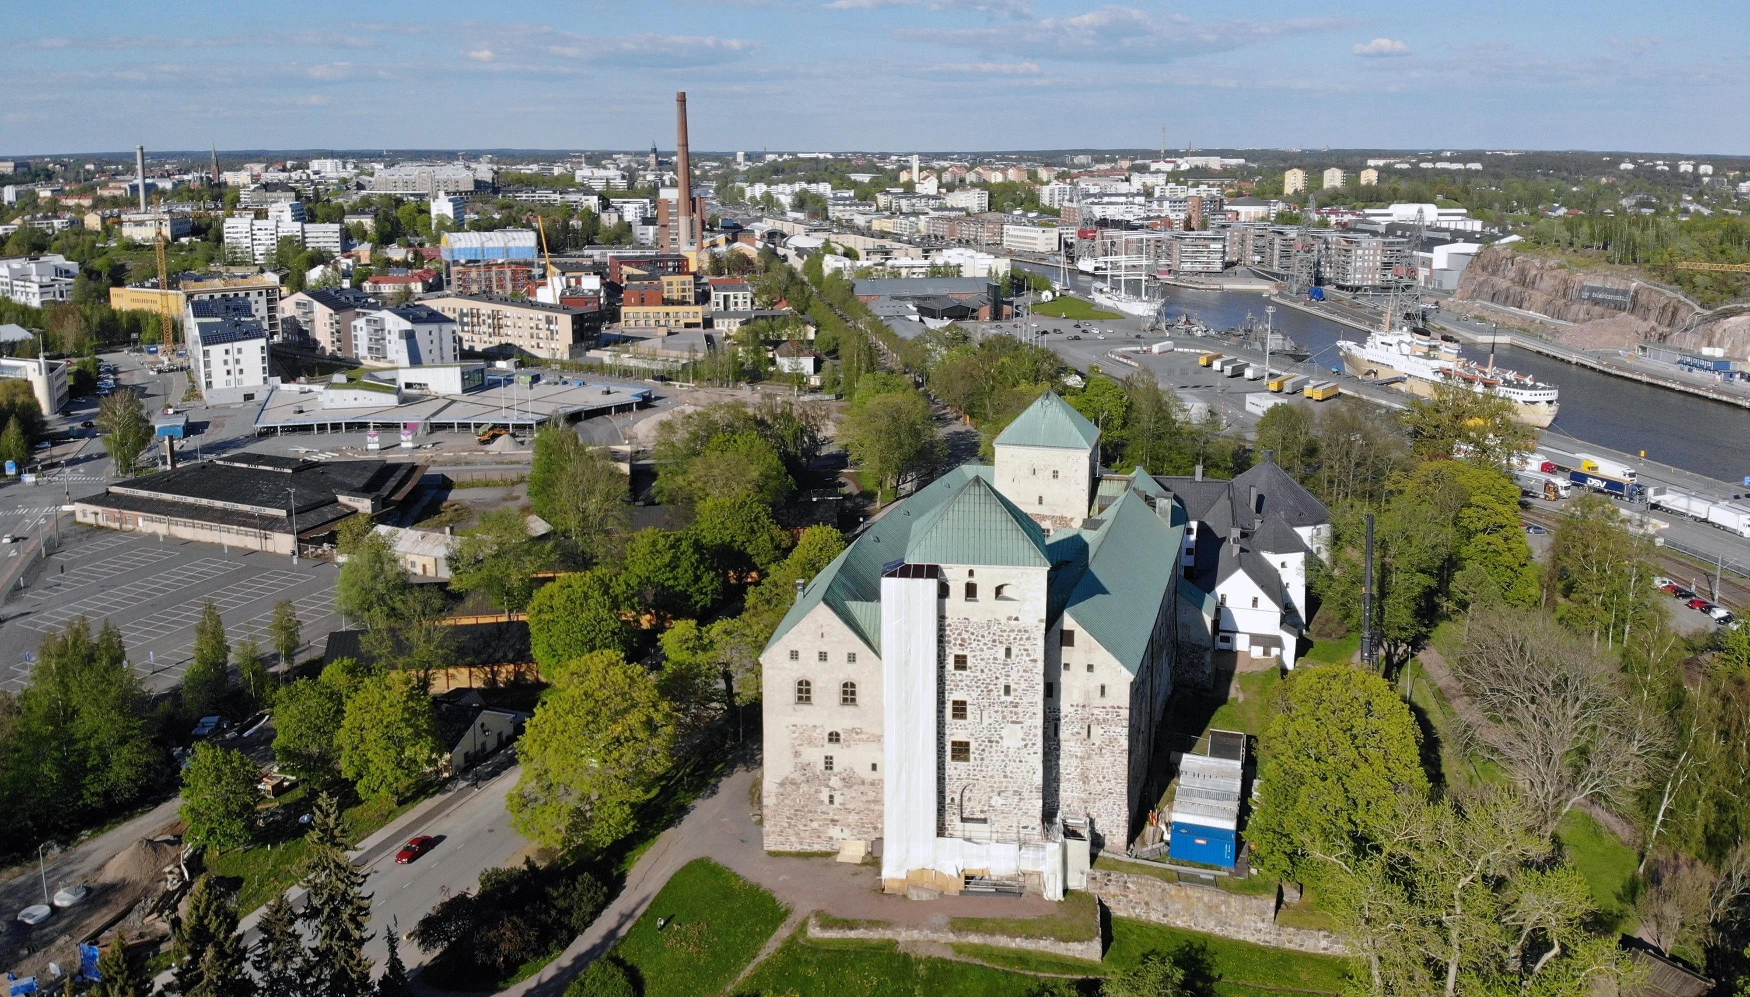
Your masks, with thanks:
<instances>
[{"instance_id":1,"label":"tallest dark green spruce at bottom left, near the red car's road","mask_svg":"<svg viewBox=\"0 0 1750 997\"><path fill-rule=\"evenodd\" d=\"M303 920L315 939L310 952L315 990L324 997L368 997L371 962L364 957L364 931L371 917L371 897L362 892L364 873L346 857L346 826L340 801L331 794L317 799L310 822L310 857L304 883L310 901Z\"/></svg>"}]
</instances>

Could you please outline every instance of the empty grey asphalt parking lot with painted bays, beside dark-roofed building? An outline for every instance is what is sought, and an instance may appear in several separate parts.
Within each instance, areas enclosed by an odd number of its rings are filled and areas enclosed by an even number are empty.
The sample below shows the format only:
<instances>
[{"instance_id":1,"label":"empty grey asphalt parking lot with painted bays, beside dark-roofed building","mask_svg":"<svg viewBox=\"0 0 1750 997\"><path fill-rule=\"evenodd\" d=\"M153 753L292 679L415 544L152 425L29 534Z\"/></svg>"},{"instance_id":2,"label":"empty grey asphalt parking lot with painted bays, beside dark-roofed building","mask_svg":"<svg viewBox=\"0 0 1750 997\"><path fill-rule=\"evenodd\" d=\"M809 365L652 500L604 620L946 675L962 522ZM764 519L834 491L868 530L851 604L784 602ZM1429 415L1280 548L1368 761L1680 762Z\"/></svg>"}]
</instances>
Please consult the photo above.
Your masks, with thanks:
<instances>
[{"instance_id":1,"label":"empty grey asphalt parking lot with painted bays, beside dark-roofed building","mask_svg":"<svg viewBox=\"0 0 1750 997\"><path fill-rule=\"evenodd\" d=\"M219 609L233 645L254 635L268 651L273 605L289 598L303 623L304 654L313 654L341 623L338 575L326 561L292 565L284 554L79 526L0 605L0 687L19 691L44 635L84 616L93 630L116 623L145 687L170 689L194 654L194 623L206 602Z\"/></svg>"}]
</instances>

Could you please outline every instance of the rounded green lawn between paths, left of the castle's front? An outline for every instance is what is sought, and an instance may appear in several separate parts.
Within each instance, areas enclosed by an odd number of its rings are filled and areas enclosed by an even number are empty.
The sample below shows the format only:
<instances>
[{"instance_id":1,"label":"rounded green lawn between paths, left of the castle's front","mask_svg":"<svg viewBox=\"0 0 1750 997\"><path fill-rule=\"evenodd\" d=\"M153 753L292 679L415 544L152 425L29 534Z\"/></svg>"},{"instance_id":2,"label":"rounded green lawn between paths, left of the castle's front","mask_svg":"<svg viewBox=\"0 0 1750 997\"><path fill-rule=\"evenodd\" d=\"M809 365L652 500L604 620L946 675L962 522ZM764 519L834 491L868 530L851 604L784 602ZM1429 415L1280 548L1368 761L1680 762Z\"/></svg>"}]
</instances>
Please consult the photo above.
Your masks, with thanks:
<instances>
[{"instance_id":1,"label":"rounded green lawn between paths, left of the castle's front","mask_svg":"<svg viewBox=\"0 0 1750 997\"><path fill-rule=\"evenodd\" d=\"M709 859L668 880L609 955L642 980L644 997L719 994L784 924L777 897ZM656 931L656 918L670 918Z\"/></svg>"}]
</instances>

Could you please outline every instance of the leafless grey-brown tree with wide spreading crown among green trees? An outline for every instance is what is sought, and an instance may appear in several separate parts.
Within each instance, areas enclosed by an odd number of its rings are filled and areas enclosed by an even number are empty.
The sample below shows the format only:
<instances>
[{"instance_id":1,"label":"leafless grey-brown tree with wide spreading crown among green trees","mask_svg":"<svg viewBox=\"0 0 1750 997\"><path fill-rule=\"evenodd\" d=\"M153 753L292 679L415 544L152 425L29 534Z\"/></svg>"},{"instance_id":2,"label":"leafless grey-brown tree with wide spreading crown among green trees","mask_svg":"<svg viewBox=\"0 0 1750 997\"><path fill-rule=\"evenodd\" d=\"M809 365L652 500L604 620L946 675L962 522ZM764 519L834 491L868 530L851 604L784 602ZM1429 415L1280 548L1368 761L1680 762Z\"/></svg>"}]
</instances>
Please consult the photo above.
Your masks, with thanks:
<instances>
[{"instance_id":1,"label":"leafless grey-brown tree with wide spreading crown among green trees","mask_svg":"<svg viewBox=\"0 0 1750 997\"><path fill-rule=\"evenodd\" d=\"M1657 717L1544 614L1477 610L1452 673L1486 717L1477 740L1545 833L1580 801L1620 803L1638 791L1662 749Z\"/></svg>"}]
</instances>

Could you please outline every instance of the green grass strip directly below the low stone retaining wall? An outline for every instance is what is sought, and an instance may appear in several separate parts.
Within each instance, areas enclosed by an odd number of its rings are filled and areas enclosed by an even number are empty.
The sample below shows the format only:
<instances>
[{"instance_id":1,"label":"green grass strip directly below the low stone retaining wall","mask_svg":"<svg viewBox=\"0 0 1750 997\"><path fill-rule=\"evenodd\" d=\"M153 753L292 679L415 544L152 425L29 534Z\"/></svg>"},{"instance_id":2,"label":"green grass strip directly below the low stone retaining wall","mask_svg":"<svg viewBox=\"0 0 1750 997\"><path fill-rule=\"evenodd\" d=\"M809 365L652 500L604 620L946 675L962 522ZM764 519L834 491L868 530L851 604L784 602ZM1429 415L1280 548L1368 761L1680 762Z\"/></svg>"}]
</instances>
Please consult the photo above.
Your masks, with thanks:
<instances>
[{"instance_id":1,"label":"green grass strip directly below the low stone retaining wall","mask_svg":"<svg viewBox=\"0 0 1750 997\"><path fill-rule=\"evenodd\" d=\"M1148 952L1172 955L1181 966L1204 962L1222 981L1216 988L1220 994L1250 994L1244 985L1337 994L1349 976L1349 960L1335 955L1311 955L1122 917L1111 918L1108 973L1136 966Z\"/></svg>"}]
</instances>

